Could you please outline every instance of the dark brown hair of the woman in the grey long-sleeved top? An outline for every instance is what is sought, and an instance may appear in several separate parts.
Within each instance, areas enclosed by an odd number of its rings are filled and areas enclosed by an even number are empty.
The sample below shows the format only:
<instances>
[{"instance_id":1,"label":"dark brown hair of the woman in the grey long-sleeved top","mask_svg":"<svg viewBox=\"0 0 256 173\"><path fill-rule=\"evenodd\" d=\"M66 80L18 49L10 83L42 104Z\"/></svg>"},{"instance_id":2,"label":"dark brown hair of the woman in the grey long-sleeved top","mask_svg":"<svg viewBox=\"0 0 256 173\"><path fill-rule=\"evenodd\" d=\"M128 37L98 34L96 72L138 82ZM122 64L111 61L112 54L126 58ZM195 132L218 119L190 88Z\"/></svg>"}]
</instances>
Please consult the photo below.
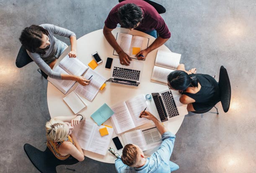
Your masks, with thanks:
<instances>
[{"instance_id":1,"label":"dark brown hair of the woman in the grey long-sleeved top","mask_svg":"<svg viewBox=\"0 0 256 173\"><path fill-rule=\"evenodd\" d=\"M49 32L39 25L31 25L22 30L19 40L29 52L44 55L45 49L39 48L42 45L43 34L48 36Z\"/></svg>"}]
</instances>

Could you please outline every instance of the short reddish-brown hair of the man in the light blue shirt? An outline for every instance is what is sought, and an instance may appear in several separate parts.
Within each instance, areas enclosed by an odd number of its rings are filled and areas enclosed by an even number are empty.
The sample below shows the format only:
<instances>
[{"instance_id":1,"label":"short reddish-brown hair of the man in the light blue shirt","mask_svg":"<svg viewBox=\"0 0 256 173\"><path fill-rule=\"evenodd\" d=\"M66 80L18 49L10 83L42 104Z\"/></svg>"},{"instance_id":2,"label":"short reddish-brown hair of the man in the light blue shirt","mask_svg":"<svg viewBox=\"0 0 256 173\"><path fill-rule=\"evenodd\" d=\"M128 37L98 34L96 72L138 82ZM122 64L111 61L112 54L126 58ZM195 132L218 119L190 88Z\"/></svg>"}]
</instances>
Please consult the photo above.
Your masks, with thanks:
<instances>
[{"instance_id":1,"label":"short reddish-brown hair of the man in the light blue shirt","mask_svg":"<svg viewBox=\"0 0 256 173\"><path fill-rule=\"evenodd\" d=\"M137 147L133 144L127 144L123 149L121 160L124 164L132 166L137 162L137 155Z\"/></svg>"}]
</instances>

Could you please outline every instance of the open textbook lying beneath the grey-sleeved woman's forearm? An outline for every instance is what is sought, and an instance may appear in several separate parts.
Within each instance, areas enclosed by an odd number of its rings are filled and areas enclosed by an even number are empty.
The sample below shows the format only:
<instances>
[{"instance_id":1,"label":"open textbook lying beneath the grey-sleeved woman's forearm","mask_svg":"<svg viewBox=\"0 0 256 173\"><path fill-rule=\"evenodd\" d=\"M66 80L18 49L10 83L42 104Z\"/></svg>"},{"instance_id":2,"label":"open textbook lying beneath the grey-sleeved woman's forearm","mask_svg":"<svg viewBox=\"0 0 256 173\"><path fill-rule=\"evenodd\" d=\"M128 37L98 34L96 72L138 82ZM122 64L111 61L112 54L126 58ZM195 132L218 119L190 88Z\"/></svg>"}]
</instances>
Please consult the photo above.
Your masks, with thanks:
<instances>
[{"instance_id":1,"label":"open textbook lying beneath the grey-sleeved woman's forearm","mask_svg":"<svg viewBox=\"0 0 256 173\"><path fill-rule=\"evenodd\" d=\"M60 62L59 65L57 65L53 71L64 73L64 74L70 74L70 75L76 75L80 76L85 73L85 71L88 69L88 67L82 63L78 58L69 58L68 55L66 55ZM59 80L48 77L47 80L52 83L54 86L56 86L62 93L66 94L67 91L72 88L72 86L75 84L76 81L74 80Z\"/></svg>"}]
</instances>

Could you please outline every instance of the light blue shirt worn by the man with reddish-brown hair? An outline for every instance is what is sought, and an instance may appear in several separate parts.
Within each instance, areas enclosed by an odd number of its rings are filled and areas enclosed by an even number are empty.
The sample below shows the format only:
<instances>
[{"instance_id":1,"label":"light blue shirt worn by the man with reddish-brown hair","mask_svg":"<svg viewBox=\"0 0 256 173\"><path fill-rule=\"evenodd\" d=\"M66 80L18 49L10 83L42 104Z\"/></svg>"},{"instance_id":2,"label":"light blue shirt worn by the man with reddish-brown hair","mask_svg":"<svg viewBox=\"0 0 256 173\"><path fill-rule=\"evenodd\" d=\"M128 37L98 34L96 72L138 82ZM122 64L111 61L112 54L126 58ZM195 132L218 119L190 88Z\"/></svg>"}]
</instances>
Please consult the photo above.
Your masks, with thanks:
<instances>
[{"instance_id":1,"label":"light blue shirt worn by the man with reddish-brown hair","mask_svg":"<svg viewBox=\"0 0 256 173\"><path fill-rule=\"evenodd\" d=\"M145 165L141 168L133 168L125 165L121 158L116 159L115 166L118 173L171 173L179 167L170 161L175 141L175 135L165 132L162 135L160 148L147 158Z\"/></svg>"}]
</instances>

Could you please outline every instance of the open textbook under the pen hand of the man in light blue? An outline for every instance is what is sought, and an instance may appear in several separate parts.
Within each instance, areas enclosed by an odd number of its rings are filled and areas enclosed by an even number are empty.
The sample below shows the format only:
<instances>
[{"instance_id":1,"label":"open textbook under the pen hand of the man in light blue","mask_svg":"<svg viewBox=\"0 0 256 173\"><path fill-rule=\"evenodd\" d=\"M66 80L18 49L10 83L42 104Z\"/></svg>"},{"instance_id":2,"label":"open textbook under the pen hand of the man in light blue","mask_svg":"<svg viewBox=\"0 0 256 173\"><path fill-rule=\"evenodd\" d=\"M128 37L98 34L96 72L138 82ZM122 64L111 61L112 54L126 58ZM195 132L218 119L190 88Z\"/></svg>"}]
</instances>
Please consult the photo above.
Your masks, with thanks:
<instances>
[{"instance_id":1,"label":"open textbook under the pen hand of the man in light blue","mask_svg":"<svg viewBox=\"0 0 256 173\"><path fill-rule=\"evenodd\" d=\"M145 95L139 95L112 106L111 109L114 111L114 115L110 119L116 134L123 133L145 123L152 123L147 118L140 118L141 111L146 107L150 111Z\"/></svg>"}]
</instances>

